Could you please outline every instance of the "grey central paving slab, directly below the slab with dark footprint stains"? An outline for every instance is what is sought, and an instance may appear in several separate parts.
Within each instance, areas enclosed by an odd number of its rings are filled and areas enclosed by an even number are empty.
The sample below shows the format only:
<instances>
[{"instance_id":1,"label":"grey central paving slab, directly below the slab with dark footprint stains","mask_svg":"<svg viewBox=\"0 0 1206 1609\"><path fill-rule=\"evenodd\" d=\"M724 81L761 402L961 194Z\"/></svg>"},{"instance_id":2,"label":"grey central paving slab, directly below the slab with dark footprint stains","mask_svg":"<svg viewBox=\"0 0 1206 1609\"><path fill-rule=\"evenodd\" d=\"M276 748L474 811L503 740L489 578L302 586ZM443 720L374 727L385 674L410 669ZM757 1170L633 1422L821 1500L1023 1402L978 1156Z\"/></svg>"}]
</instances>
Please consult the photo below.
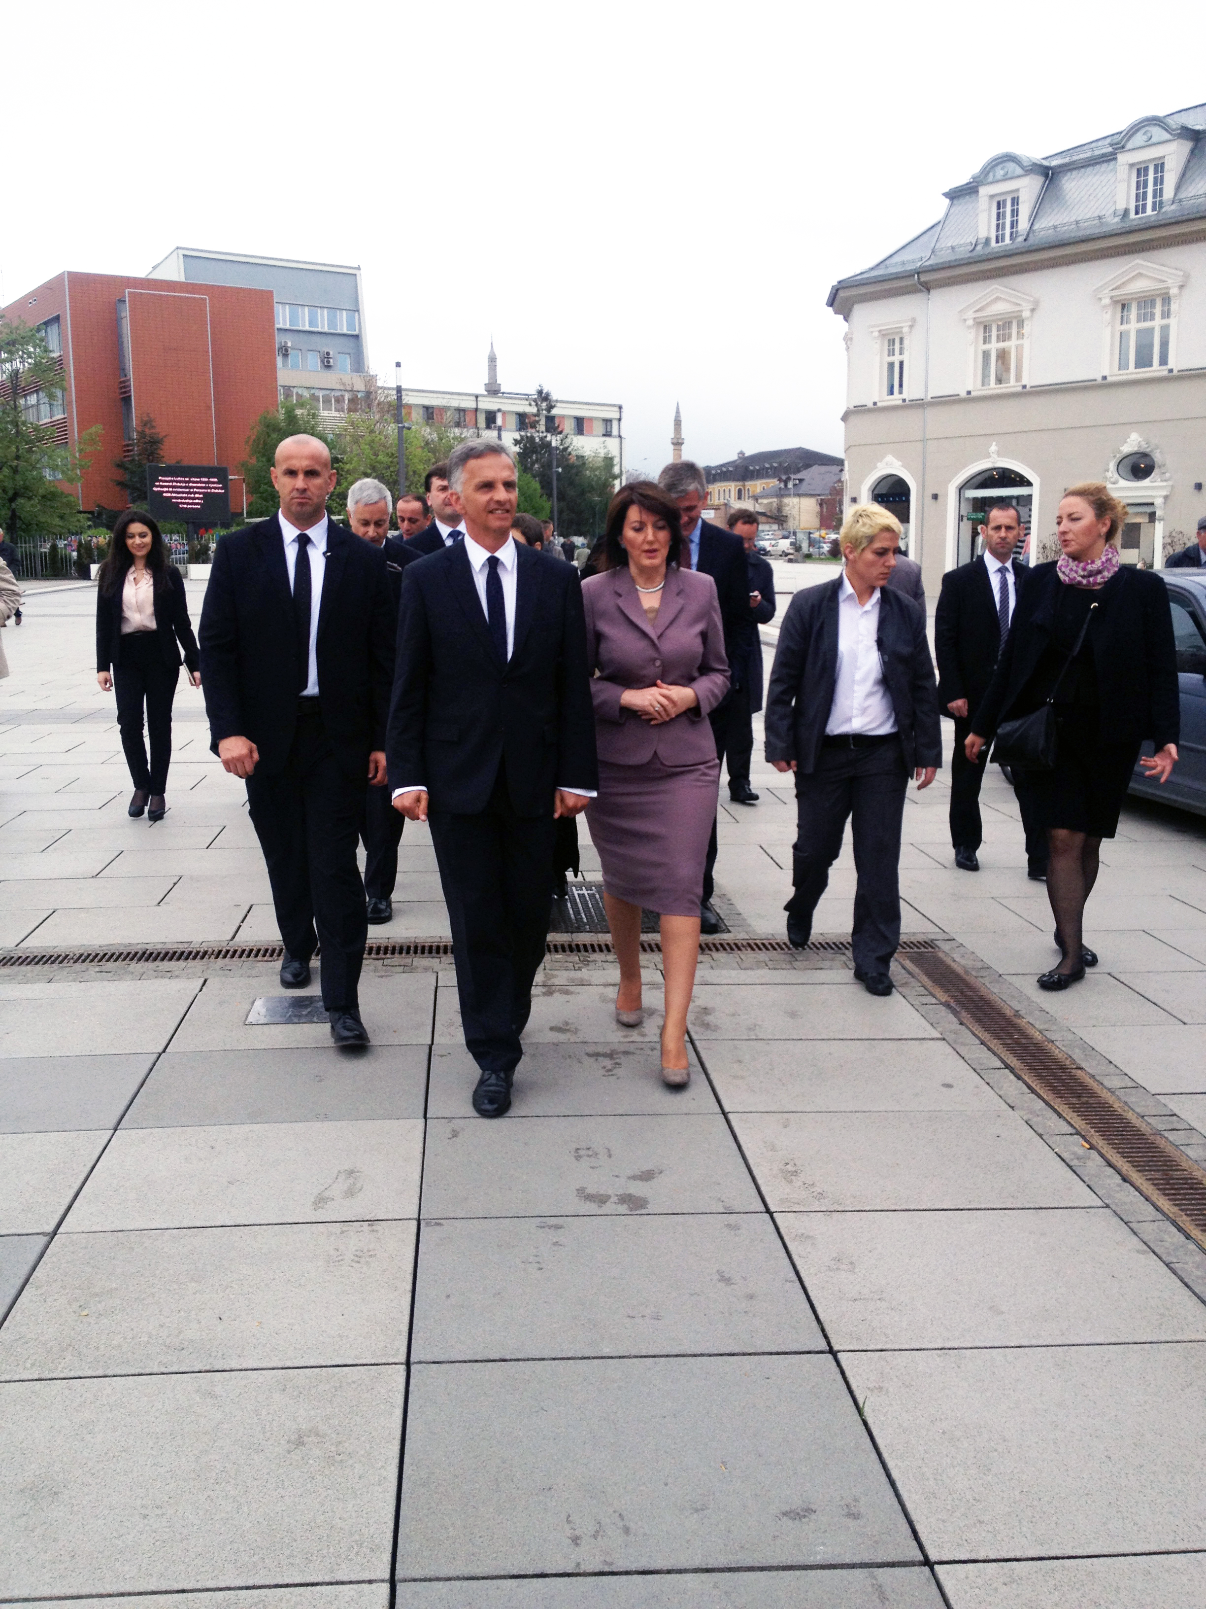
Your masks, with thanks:
<instances>
[{"instance_id":1,"label":"grey central paving slab, directly below the slab with dark footprint stains","mask_svg":"<svg viewBox=\"0 0 1206 1609\"><path fill-rule=\"evenodd\" d=\"M823 1350L765 1215L423 1224L418 1363Z\"/></svg>"}]
</instances>

